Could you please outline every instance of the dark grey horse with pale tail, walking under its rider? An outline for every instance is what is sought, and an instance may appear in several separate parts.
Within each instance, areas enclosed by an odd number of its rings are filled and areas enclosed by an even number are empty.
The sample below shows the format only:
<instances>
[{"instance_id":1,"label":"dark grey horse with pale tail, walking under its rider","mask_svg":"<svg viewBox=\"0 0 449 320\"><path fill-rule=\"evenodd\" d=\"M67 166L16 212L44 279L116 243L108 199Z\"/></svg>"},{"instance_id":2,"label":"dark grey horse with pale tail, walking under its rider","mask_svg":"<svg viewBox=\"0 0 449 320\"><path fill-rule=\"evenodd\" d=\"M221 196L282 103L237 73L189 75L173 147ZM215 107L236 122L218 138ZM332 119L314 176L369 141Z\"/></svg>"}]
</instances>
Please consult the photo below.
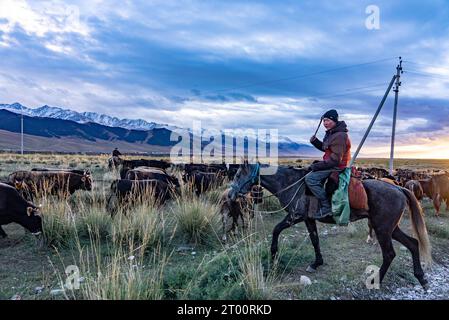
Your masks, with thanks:
<instances>
[{"instance_id":1,"label":"dark grey horse with pale tail, walking under its rider","mask_svg":"<svg viewBox=\"0 0 449 320\"><path fill-rule=\"evenodd\" d=\"M268 167L264 165L265 167ZM261 174L259 163L244 162L240 165L233 182L231 183L231 200L251 191L252 186L258 184L275 195L283 209L287 211L285 218L273 230L271 241L271 258L275 259L278 252L278 239L280 233L297 223L304 222L315 251L315 261L307 268L308 272L316 272L323 265L316 220L309 217L311 196L306 195L304 179L309 169L294 169L277 167L274 174ZM404 245L412 255L414 276L418 279L424 290L429 285L421 267L420 259L425 267L432 263L429 237L423 212L413 193L400 186L391 185L379 180L364 180L363 186L368 195L369 210L356 210L351 208L350 221L368 218L376 233L382 249L383 262L379 269L379 280L382 282L396 253L392 239ZM399 228L399 222L409 207L411 224L417 239L410 237ZM318 219L319 222L335 224L332 216Z\"/></svg>"}]
</instances>

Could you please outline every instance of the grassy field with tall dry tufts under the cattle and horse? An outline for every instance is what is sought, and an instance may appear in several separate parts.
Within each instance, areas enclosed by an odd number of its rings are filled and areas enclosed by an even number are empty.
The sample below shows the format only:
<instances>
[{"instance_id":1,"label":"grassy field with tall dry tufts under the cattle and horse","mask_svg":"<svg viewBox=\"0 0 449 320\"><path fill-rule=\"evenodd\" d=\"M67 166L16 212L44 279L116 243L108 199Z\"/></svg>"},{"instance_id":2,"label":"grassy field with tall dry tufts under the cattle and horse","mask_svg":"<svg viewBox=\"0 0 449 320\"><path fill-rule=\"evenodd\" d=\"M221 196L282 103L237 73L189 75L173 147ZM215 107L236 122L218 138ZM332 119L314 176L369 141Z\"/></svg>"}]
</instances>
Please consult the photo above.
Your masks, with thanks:
<instances>
[{"instance_id":1,"label":"grassy field with tall dry tufts under the cattle and horse","mask_svg":"<svg viewBox=\"0 0 449 320\"><path fill-rule=\"evenodd\" d=\"M218 199L225 186L195 198L183 188L181 198L157 207L147 201L111 218L105 198L116 173L108 156L0 155L0 179L18 169L58 167L90 169L93 191L71 198L39 199L46 243L18 225L4 227L0 239L0 299L449 299L449 214L440 217L423 202L435 261L427 272L431 292L413 276L411 256L398 243L380 290L365 286L369 265L380 266L377 244L365 242L366 220L348 227L318 225L324 266L305 269L314 259L303 224L284 231L280 256L269 258L271 232L284 213L256 213L247 232L222 244ZM311 160L283 158L282 164ZM357 165L386 167L385 159L362 159ZM445 160L398 160L397 167L449 169ZM179 174L179 172L174 172ZM272 198L260 211L275 210ZM401 222L410 232L406 214ZM72 266L72 267L71 267ZM67 267L79 271L79 289L64 288ZM307 276L310 285L303 285Z\"/></svg>"}]
</instances>

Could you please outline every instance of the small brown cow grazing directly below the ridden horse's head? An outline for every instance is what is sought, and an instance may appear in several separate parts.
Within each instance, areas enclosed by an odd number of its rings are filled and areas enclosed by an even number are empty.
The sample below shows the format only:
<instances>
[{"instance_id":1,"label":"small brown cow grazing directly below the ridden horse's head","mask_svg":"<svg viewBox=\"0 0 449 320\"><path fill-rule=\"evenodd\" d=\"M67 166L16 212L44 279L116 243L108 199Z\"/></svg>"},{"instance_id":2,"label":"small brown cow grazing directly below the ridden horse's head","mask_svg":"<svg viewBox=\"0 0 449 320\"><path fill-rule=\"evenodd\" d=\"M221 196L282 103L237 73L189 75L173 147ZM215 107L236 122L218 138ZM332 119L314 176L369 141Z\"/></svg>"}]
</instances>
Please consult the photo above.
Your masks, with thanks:
<instances>
[{"instance_id":1,"label":"small brown cow grazing directly below the ridden horse's head","mask_svg":"<svg viewBox=\"0 0 449 320\"><path fill-rule=\"evenodd\" d=\"M226 189L220 199L220 214L223 222L222 241L227 241L229 233L234 233L239 220L242 228L248 228L249 220L254 218L254 207L262 202L262 190L259 186L253 186L251 192L237 197L234 201L229 197L230 188ZM231 223L230 223L231 222Z\"/></svg>"}]
</instances>

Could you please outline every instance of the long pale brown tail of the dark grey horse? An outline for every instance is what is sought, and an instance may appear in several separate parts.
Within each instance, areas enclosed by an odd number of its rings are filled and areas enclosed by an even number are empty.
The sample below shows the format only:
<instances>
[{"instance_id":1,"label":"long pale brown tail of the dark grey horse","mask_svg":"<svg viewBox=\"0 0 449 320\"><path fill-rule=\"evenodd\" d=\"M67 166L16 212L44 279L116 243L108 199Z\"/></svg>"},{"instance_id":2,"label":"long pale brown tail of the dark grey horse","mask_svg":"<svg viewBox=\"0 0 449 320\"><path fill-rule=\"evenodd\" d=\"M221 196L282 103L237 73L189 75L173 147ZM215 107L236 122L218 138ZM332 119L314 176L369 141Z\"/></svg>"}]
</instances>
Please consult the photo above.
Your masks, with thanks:
<instances>
[{"instance_id":1,"label":"long pale brown tail of the dark grey horse","mask_svg":"<svg viewBox=\"0 0 449 320\"><path fill-rule=\"evenodd\" d=\"M432 264L431 246L421 205L410 190L406 188L401 189L407 197L408 206L410 208L411 224L413 232L418 239L421 260L426 267L430 267Z\"/></svg>"}]
</instances>

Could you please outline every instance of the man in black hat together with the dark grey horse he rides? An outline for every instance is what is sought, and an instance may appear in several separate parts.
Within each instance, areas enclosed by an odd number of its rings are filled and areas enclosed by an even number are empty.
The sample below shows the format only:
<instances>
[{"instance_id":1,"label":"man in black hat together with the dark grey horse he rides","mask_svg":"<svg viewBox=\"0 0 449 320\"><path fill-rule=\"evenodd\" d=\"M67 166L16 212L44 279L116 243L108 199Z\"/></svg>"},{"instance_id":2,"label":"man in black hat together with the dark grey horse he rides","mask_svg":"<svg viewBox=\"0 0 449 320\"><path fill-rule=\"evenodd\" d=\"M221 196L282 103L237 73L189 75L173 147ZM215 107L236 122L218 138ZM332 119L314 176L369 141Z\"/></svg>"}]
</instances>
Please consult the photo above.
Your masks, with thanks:
<instances>
[{"instance_id":1,"label":"man in black hat together with the dark grey horse he rides","mask_svg":"<svg viewBox=\"0 0 449 320\"><path fill-rule=\"evenodd\" d=\"M262 168L267 169L270 165L244 162L235 174L229 192L229 198L234 201L238 195L248 194L253 186L260 185L271 193L270 196L279 200L281 208L270 213L287 212L282 221L276 224L273 229L271 237L271 256L273 259L278 255L281 232L297 223L305 223L315 251L315 260L307 267L306 271L308 272L316 272L318 267L324 263L316 222L335 224L336 221L331 216L319 219L308 216L311 201L310 196L306 194L304 184L308 181L307 184L312 192L315 191L316 196L320 196L321 202L324 202L325 192L318 189L318 185L322 188L321 182L329 177L332 170L339 170L347 166L351 147L346 124L343 121L338 121L338 114L335 110L326 112L322 120L327 129L323 142L315 137L312 137L311 140L318 149L325 152L325 155L323 161L312 165L310 169L313 171L310 171L309 168L298 169L289 166L277 166L274 173L272 170L261 172ZM328 172L324 172L325 170L328 170ZM307 179L309 176L312 176L312 179ZM312 183L310 180L312 180ZM350 221L368 218L376 233L383 258L379 269L379 282L381 283L384 279L391 262L396 256L392 243L394 239L410 251L413 274L422 287L427 290L429 284L421 262L424 263L424 266L429 267L432 264L432 256L420 203L410 190L400 186L377 179L367 179L362 181L362 184L367 194L369 209L357 210L354 208L353 210L351 208ZM410 225L415 237L403 232L399 225L406 208L408 208ZM323 210L321 210L322 212Z\"/></svg>"}]
</instances>

